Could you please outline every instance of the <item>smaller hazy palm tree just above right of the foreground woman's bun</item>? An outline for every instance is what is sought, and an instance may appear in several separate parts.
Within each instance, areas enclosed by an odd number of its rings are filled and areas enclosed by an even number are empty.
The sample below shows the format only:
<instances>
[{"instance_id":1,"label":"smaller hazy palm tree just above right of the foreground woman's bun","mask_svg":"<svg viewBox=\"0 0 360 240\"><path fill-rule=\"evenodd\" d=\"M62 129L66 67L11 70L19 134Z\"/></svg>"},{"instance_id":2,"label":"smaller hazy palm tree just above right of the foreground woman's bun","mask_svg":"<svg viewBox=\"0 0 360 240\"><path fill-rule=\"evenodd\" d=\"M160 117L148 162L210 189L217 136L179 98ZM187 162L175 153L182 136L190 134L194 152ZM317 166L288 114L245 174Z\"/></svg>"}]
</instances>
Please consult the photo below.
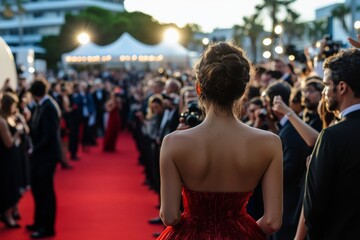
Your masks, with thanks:
<instances>
[{"instance_id":1,"label":"smaller hazy palm tree just above right of the foreground woman's bun","mask_svg":"<svg viewBox=\"0 0 360 240\"><path fill-rule=\"evenodd\" d=\"M243 17L244 24L234 26L235 36L234 39L240 40L244 37L249 37L251 42L251 53L253 61L257 61L257 40L259 35L264 32L264 25L262 25L261 19L258 18L258 14L254 14L250 17Z\"/></svg>"}]
</instances>

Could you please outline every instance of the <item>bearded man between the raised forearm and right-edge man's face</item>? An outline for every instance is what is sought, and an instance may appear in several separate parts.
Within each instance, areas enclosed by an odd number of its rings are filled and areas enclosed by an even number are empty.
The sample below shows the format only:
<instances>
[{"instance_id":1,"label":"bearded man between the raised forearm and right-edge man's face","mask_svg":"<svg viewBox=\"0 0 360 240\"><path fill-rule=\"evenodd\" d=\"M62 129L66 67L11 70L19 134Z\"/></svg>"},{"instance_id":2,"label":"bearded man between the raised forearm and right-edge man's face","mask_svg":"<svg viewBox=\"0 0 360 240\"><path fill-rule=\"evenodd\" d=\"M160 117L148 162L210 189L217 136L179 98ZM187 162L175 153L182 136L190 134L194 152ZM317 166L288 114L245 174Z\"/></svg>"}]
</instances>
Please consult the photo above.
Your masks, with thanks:
<instances>
[{"instance_id":1,"label":"bearded man between the raised forearm and right-edge man's face","mask_svg":"<svg viewBox=\"0 0 360 240\"><path fill-rule=\"evenodd\" d=\"M305 109L302 114L302 119L318 132L322 130L322 121L317 112L317 108L323 89L324 84L320 77L311 76L305 80L305 89L303 91Z\"/></svg>"}]
</instances>

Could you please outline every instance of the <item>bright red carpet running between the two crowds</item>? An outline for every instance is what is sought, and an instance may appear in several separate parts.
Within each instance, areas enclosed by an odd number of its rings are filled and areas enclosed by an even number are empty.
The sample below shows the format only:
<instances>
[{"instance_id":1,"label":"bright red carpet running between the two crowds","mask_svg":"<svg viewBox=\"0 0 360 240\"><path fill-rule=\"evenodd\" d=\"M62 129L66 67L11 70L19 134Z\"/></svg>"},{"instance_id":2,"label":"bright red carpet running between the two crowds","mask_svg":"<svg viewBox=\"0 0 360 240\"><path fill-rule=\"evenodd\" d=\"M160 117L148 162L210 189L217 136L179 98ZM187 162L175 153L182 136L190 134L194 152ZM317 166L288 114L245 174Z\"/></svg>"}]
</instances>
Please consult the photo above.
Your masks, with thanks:
<instances>
[{"instance_id":1,"label":"bright red carpet running between the two crowds","mask_svg":"<svg viewBox=\"0 0 360 240\"><path fill-rule=\"evenodd\" d=\"M148 224L158 216L157 195L143 186L143 168L130 133L121 133L115 153L98 147L80 151L74 169L60 167L55 177L57 195L56 240L155 239L162 225ZM5 229L1 240L30 239L25 225L32 223L33 199L26 192L19 203L21 229Z\"/></svg>"}]
</instances>

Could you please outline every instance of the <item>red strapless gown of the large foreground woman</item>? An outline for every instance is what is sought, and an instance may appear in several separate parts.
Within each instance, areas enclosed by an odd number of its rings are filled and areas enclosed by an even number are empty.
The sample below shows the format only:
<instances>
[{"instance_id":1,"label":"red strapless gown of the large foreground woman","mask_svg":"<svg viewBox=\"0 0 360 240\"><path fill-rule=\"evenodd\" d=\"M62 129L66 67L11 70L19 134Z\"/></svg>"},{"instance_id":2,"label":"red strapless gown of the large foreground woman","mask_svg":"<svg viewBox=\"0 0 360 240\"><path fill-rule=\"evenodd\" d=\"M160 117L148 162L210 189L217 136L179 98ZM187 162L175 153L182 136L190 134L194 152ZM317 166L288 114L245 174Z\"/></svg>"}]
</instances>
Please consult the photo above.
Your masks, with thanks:
<instances>
[{"instance_id":1,"label":"red strapless gown of the large foreground woman","mask_svg":"<svg viewBox=\"0 0 360 240\"><path fill-rule=\"evenodd\" d=\"M181 220L158 240L263 240L265 234L247 214L252 192L197 192L183 187Z\"/></svg>"}]
</instances>

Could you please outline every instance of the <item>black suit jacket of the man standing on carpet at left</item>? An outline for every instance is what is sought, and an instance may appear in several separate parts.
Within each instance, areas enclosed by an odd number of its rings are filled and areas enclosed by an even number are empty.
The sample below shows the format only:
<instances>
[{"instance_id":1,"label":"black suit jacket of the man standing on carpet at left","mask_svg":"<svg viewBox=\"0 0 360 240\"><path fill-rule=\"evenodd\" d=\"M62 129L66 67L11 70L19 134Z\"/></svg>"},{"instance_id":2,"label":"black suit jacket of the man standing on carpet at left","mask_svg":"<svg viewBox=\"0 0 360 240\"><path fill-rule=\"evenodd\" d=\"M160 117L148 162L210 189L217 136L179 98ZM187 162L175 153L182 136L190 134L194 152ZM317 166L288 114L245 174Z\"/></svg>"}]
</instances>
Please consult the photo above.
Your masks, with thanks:
<instances>
[{"instance_id":1,"label":"black suit jacket of the man standing on carpet at left","mask_svg":"<svg viewBox=\"0 0 360 240\"><path fill-rule=\"evenodd\" d=\"M46 99L37 110L30 124L34 145L31 155L35 165L52 165L61 160L60 109L55 100Z\"/></svg>"}]
</instances>

